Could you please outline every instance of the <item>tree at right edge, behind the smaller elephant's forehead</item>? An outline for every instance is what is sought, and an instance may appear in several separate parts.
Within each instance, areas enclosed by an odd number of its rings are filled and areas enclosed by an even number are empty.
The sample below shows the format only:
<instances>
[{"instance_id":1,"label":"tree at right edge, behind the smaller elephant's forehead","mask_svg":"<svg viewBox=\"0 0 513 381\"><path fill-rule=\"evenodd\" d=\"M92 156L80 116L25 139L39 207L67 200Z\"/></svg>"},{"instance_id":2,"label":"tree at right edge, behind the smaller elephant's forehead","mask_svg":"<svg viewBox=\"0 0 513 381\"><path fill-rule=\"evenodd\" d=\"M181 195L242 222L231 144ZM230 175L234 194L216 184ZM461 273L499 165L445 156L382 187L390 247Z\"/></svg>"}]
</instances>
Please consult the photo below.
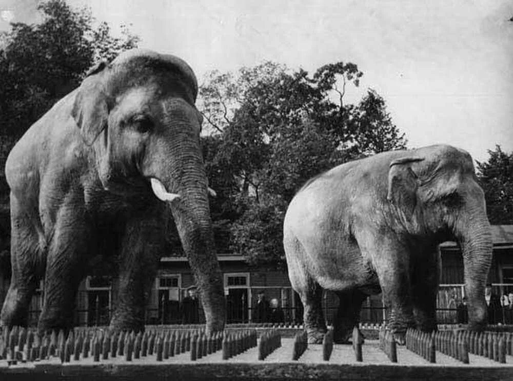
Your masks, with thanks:
<instances>
[{"instance_id":1,"label":"tree at right edge, behind the smaller elephant's forehead","mask_svg":"<svg viewBox=\"0 0 513 381\"><path fill-rule=\"evenodd\" d=\"M484 190L486 212L492 225L513 224L513 152L498 145L488 150L487 162L477 162L478 177Z\"/></svg>"}]
</instances>

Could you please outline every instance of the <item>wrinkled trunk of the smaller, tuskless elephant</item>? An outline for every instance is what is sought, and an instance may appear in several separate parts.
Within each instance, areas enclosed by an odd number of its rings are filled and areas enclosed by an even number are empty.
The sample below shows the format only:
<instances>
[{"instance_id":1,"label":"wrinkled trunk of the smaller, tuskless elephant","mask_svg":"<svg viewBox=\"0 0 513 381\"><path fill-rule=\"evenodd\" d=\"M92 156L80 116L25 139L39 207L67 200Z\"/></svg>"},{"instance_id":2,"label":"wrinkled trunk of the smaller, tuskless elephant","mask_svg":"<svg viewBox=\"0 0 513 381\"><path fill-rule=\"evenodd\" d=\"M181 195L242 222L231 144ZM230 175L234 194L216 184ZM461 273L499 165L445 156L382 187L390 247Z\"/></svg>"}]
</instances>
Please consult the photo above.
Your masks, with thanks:
<instances>
[{"instance_id":1,"label":"wrinkled trunk of the smaller, tuskless elephant","mask_svg":"<svg viewBox=\"0 0 513 381\"><path fill-rule=\"evenodd\" d=\"M484 294L492 257L491 228L484 200L460 216L456 235L463 251L468 329L481 331L487 324Z\"/></svg>"}]
</instances>

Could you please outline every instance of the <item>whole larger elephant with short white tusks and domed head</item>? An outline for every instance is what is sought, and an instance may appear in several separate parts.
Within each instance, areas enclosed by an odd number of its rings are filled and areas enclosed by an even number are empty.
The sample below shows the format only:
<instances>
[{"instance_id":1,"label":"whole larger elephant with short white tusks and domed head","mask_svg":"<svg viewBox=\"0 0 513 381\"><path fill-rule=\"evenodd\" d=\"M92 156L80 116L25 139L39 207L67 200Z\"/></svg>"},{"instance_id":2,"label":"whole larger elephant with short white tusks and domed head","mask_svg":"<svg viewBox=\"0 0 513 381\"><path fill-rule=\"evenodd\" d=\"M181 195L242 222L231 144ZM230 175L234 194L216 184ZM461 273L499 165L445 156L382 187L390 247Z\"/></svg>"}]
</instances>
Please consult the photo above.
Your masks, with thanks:
<instances>
[{"instance_id":1,"label":"whole larger elephant with short white tusks and domed head","mask_svg":"<svg viewBox=\"0 0 513 381\"><path fill-rule=\"evenodd\" d=\"M103 256L117 265L110 327L144 329L174 223L207 330L224 328L197 93L182 59L131 50L93 68L19 140L6 164L12 279L1 325L27 324L44 278L38 328L70 328L78 284Z\"/></svg>"}]
</instances>

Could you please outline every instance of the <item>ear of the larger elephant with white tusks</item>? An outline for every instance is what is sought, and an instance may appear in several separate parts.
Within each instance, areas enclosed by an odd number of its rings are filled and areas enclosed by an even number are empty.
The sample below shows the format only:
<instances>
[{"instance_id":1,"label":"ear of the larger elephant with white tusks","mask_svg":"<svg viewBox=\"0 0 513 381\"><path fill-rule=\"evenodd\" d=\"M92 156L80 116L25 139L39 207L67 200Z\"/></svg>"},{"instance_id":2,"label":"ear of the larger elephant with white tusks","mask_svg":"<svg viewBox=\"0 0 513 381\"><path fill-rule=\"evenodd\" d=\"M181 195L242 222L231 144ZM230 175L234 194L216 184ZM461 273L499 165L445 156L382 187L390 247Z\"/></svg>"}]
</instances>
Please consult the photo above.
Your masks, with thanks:
<instances>
[{"instance_id":1,"label":"ear of the larger elephant with white tusks","mask_svg":"<svg viewBox=\"0 0 513 381\"><path fill-rule=\"evenodd\" d=\"M87 145L93 144L107 127L107 97L103 90L102 73L107 64L100 62L86 74L77 90L71 114Z\"/></svg>"}]
</instances>

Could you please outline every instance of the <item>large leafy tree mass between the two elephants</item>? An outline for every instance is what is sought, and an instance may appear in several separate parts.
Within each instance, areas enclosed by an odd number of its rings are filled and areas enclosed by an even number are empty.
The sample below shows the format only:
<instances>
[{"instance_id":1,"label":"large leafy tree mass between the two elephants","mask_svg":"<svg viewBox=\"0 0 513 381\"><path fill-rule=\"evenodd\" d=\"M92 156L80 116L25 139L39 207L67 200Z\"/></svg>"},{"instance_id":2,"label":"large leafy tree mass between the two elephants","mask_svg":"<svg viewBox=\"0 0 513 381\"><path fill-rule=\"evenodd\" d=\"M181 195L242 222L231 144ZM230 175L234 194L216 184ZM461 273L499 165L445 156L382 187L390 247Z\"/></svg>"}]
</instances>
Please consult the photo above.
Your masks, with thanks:
<instances>
[{"instance_id":1,"label":"large leafy tree mass between the two elephants","mask_svg":"<svg viewBox=\"0 0 513 381\"><path fill-rule=\"evenodd\" d=\"M224 168L232 184L231 249L251 265L284 265L283 217L307 179L405 147L375 91L356 106L344 104L346 86L358 86L362 75L351 63L325 65L312 77L264 63L238 74L213 72L201 87L206 124L219 137L207 163Z\"/></svg>"}]
</instances>

